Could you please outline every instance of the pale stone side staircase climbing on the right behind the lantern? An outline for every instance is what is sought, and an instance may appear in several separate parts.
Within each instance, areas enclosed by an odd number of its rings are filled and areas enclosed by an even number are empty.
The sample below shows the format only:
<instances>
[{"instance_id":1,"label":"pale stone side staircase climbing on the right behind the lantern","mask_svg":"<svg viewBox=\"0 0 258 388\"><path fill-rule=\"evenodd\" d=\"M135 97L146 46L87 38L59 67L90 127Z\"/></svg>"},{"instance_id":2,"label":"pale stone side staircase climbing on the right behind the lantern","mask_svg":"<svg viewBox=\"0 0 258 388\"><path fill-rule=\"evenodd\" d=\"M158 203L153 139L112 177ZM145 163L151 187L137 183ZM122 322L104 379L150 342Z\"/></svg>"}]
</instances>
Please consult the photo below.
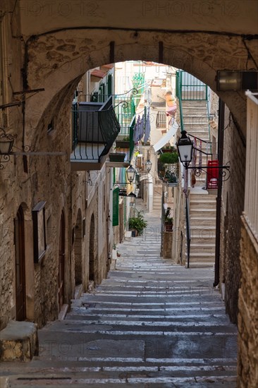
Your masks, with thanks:
<instances>
[{"instance_id":1,"label":"pale stone side staircase climbing on the right behind the lantern","mask_svg":"<svg viewBox=\"0 0 258 388\"><path fill-rule=\"evenodd\" d=\"M209 121L206 101L183 101L183 118L185 131L197 138L209 141ZM207 151L202 142L202 150ZM197 165L199 155L197 155ZM202 164L207 165L205 154ZM190 189L190 266L214 266L216 238L216 195L209 194L206 187L207 174L203 172L196 177L194 189Z\"/></svg>"}]
</instances>

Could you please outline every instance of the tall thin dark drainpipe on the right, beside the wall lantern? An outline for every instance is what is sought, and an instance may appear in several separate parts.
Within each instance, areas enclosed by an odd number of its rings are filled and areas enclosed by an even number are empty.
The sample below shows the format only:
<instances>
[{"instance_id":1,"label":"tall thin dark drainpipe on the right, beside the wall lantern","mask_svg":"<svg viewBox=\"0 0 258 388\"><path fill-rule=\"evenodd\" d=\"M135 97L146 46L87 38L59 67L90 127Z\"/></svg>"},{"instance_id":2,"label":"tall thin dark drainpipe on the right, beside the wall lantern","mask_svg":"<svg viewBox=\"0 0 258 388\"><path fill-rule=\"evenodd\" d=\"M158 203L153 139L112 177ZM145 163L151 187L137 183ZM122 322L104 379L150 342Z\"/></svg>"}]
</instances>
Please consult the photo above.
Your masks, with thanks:
<instances>
[{"instance_id":1,"label":"tall thin dark drainpipe on the right, beside the wall lantern","mask_svg":"<svg viewBox=\"0 0 258 388\"><path fill-rule=\"evenodd\" d=\"M225 103L219 99L219 134L218 134L218 159L219 166L223 166L223 147L224 147L224 120L225 120ZM219 171L220 176L221 171ZM216 247L215 247L215 274L214 284L216 287L219 284L219 261L221 250L221 193L222 179L219 178L218 194L216 198Z\"/></svg>"}]
</instances>

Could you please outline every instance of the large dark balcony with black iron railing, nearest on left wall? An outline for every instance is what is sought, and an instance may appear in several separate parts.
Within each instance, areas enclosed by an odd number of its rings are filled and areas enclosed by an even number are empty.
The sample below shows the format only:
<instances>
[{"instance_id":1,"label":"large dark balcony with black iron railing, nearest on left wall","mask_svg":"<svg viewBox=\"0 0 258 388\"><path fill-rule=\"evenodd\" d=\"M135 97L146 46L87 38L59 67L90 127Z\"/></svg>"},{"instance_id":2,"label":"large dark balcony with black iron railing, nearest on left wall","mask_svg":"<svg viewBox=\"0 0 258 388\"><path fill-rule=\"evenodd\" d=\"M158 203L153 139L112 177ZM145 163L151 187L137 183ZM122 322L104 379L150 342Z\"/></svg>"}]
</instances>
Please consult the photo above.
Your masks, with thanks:
<instances>
[{"instance_id":1,"label":"large dark balcony with black iron railing, nearest on left wall","mask_svg":"<svg viewBox=\"0 0 258 388\"><path fill-rule=\"evenodd\" d=\"M73 104L73 171L101 169L121 130L110 97L103 103Z\"/></svg>"}]
</instances>

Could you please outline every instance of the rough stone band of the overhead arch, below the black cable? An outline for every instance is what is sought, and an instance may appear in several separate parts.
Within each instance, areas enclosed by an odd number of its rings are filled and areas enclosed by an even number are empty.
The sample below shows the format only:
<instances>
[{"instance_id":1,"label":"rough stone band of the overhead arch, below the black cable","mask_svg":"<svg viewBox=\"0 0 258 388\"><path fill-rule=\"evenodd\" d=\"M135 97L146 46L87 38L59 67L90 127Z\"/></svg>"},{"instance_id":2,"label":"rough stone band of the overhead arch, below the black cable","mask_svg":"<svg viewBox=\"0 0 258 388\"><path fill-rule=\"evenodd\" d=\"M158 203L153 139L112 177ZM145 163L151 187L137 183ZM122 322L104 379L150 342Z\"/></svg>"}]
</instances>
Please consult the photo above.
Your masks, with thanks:
<instances>
[{"instance_id":1,"label":"rough stone band of the overhead arch, below the black cable","mask_svg":"<svg viewBox=\"0 0 258 388\"><path fill-rule=\"evenodd\" d=\"M258 49L254 42L249 44L252 57L258 58ZM237 59L235 52L238 52ZM188 71L217 92L216 71L221 68L245 68L247 54L239 34L216 35L195 31L136 33L133 30L118 31L111 28L44 32L27 40L25 84L30 89L44 87L44 92L27 101L26 122L28 126L33 124L35 128L42 115L44 119L49 116L50 120L56 107L56 99L60 99L61 95L70 95L72 99L73 90L80 77L90 68L105 63L131 59L164 63ZM236 123L245 134L244 93L217 94L226 102Z\"/></svg>"}]
</instances>

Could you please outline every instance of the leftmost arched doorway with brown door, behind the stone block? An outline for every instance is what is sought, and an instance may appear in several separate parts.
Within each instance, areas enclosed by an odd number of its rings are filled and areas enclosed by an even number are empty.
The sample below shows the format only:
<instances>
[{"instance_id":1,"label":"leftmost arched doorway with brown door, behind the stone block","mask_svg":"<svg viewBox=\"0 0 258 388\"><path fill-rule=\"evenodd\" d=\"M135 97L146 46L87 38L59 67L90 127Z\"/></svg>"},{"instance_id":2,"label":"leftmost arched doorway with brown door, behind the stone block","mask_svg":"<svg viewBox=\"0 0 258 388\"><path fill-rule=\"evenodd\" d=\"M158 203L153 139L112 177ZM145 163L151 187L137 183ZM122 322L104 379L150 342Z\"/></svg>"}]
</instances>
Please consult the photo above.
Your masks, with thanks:
<instances>
[{"instance_id":1,"label":"leftmost arched doorway with brown door, behind the stone block","mask_svg":"<svg viewBox=\"0 0 258 388\"><path fill-rule=\"evenodd\" d=\"M16 244L16 320L26 319L25 293L25 228L23 207L19 207L14 219Z\"/></svg>"}]
</instances>

